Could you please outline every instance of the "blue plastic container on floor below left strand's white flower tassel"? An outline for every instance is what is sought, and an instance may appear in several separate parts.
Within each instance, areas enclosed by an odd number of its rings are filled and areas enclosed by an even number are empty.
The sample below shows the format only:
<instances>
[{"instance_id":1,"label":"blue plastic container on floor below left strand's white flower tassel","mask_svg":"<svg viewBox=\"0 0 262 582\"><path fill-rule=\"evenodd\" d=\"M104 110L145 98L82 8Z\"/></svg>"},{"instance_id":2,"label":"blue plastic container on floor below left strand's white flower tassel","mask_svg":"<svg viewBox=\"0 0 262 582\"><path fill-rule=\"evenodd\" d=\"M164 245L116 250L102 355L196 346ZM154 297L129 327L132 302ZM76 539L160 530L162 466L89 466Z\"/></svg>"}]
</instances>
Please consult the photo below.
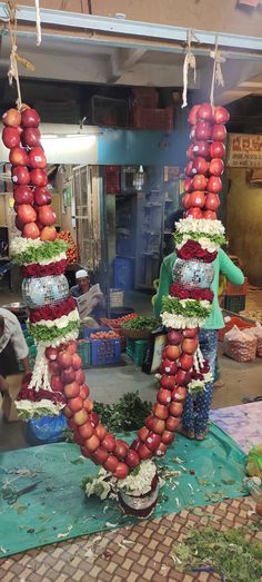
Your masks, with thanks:
<instances>
[{"instance_id":1,"label":"blue plastic container on floor below left strand's white flower tassel","mask_svg":"<svg viewBox=\"0 0 262 582\"><path fill-rule=\"evenodd\" d=\"M68 421L63 413L59 416L41 416L27 423L27 442L34 445L58 443L63 441L63 431L68 426Z\"/></svg>"}]
</instances>

